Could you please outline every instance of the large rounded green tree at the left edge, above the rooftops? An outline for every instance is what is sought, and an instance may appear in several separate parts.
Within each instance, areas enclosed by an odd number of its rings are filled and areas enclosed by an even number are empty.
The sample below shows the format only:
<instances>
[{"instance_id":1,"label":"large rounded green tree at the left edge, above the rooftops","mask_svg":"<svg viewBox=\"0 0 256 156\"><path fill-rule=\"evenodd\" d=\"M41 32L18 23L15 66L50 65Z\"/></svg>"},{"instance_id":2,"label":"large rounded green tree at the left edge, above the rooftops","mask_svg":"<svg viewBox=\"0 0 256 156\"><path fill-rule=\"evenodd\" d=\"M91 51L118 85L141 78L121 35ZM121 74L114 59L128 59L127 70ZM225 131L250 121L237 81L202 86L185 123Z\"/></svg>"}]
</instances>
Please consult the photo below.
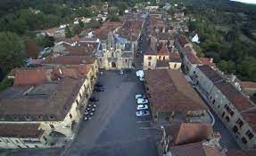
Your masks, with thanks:
<instances>
[{"instance_id":1,"label":"large rounded green tree at the left edge, above the rooftops","mask_svg":"<svg viewBox=\"0 0 256 156\"><path fill-rule=\"evenodd\" d=\"M20 67L25 58L21 37L11 32L0 32L0 66L7 74L12 68Z\"/></svg>"}]
</instances>

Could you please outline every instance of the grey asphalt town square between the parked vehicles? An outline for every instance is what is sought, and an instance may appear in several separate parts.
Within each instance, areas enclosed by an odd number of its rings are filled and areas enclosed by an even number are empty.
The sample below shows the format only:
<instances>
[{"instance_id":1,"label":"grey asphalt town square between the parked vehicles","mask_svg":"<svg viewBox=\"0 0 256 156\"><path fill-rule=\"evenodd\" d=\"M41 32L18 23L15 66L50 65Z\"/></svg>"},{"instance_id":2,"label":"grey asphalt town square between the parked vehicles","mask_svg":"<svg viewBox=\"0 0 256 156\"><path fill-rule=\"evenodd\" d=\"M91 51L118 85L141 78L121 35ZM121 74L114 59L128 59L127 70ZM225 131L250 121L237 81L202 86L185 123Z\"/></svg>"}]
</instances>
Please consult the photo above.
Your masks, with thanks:
<instances>
[{"instance_id":1,"label":"grey asphalt town square between the parked vehicles","mask_svg":"<svg viewBox=\"0 0 256 156\"><path fill-rule=\"evenodd\" d=\"M95 93L99 98L91 120L82 121L78 136L69 148L2 152L1 155L29 156L155 156L156 141L161 138L151 128L151 117L136 117L136 93L144 93L136 72L119 74L103 71L98 81L104 91Z\"/></svg>"}]
</instances>

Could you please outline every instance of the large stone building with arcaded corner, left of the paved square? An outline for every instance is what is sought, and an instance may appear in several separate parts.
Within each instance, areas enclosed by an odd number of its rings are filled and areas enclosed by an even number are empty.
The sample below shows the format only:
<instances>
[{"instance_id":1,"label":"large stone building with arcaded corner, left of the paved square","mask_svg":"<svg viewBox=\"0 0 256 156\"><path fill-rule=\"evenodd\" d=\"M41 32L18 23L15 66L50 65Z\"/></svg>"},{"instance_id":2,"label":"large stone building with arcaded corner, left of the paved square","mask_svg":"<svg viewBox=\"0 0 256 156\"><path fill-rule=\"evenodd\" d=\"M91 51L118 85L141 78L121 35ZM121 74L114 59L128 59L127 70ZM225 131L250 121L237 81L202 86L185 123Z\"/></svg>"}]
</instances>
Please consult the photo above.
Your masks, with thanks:
<instances>
[{"instance_id":1,"label":"large stone building with arcaded corner, left of the paved square","mask_svg":"<svg viewBox=\"0 0 256 156\"><path fill-rule=\"evenodd\" d=\"M13 86L0 93L0 148L62 146L73 138L98 71L77 60L51 59L9 74Z\"/></svg>"}]
</instances>

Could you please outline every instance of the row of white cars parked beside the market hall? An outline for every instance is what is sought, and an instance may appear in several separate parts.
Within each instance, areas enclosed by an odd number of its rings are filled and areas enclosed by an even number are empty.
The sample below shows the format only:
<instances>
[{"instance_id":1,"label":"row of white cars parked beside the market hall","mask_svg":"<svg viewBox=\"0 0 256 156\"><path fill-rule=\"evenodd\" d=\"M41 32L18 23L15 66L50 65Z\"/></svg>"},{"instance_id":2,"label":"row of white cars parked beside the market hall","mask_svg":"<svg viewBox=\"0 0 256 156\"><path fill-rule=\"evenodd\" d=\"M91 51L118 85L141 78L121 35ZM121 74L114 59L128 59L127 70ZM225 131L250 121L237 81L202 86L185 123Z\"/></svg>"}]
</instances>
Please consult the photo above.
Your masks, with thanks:
<instances>
[{"instance_id":1,"label":"row of white cars parked beside the market hall","mask_svg":"<svg viewBox=\"0 0 256 156\"><path fill-rule=\"evenodd\" d=\"M149 113L149 103L148 99L146 99L146 96L143 94L136 94L136 116L148 116Z\"/></svg>"}]
</instances>

